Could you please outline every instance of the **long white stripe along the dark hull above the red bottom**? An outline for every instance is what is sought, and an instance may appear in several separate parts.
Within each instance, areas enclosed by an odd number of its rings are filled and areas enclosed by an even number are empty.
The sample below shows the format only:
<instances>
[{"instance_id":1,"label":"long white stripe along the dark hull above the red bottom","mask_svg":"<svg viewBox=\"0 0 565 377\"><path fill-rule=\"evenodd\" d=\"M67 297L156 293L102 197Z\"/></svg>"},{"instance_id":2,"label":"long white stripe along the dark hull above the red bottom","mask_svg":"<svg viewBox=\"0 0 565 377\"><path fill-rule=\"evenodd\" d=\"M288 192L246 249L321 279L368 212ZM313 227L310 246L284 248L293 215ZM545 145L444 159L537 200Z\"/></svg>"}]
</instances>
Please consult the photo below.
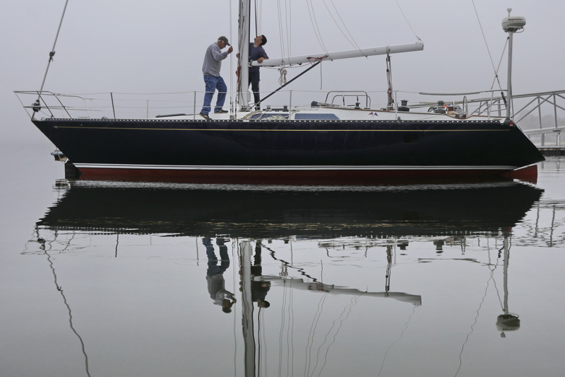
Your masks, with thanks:
<instances>
[{"instance_id":1,"label":"long white stripe along the dark hull above the red bottom","mask_svg":"<svg viewBox=\"0 0 565 377\"><path fill-rule=\"evenodd\" d=\"M202 166L76 163L78 169L133 170L514 170L516 166Z\"/></svg>"}]
</instances>

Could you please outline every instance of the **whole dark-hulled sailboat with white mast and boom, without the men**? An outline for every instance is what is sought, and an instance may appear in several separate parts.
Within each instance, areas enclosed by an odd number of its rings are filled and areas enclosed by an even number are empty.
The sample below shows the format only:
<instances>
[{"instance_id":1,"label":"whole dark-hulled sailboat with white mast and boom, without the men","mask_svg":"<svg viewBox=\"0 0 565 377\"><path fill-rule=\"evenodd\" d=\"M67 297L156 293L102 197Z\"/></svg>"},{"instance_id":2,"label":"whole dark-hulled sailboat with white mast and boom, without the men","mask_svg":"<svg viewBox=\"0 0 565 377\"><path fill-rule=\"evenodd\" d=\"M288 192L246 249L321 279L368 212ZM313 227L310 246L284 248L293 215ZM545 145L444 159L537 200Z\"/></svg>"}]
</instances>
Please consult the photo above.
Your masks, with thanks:
<instances>
[{"instance_id":1,"label":"whole dark-hulled sailboat with white mast and boom, without the men","mask_svg":"<svg viewBox=\"0 0 565 377\"><path fill-rule=\"evenodd\" d=\"M250 13L249 0L240 1L239 66L248 64ZM525 24L521 17L504 20L509 35ZM389 59L423 48L418 40L251 64L314 66L373 55ZM536 175L535 164L544 161L511 120L509 105L506 116L472 113L465 100L461 105L438 101L418 110L406 101L397 103L389 90L385 108L372 108L367 98L353 106L329 101L295 106L289 100L280 108L252 110L258 104L246 100L247 88L241 85L247 83L246 75L242 69L237 107L210 119L199 117L196 105L192 114L120 119L113 100L114 117L76 116L76 108L64 103L71 97L43 88L16 93L36 96L24 108L64 156L68 178L366 185L393 178L519 178ZM209 153L211 146L221 153Z\"/></svg>"}]
</instances>

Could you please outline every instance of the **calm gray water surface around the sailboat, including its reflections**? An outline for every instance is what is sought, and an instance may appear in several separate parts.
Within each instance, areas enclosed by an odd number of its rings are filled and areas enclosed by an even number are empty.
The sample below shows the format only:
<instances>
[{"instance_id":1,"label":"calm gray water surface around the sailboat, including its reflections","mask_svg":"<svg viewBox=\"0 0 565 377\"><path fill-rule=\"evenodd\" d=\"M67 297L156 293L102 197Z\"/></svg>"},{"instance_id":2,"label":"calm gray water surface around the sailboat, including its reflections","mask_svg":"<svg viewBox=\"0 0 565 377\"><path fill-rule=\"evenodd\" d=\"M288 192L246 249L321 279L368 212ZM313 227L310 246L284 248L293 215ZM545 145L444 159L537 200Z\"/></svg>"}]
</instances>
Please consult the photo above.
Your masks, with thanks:
<instances>
[{"instance_id":1,"label":"calm gray water surface around the sailboat, including its reflections","mask_svg":"<svg viewBox=\"0 0 565 377\"><path fill-rule=\"evenodd\" d=\"M537 185L69 182L4 146L0 376L561 376L564 160Z\"/></svg>"}]
</instances>

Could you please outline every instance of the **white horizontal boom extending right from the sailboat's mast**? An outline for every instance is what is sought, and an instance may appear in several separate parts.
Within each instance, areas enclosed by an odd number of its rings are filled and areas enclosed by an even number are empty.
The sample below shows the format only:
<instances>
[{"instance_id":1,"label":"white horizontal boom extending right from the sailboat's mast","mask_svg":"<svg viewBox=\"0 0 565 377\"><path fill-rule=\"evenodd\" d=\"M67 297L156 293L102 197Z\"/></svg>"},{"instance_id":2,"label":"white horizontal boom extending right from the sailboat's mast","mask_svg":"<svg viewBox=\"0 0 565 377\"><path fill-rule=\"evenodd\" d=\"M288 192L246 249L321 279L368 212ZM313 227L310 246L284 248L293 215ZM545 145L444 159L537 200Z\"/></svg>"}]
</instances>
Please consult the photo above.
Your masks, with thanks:
<instances>
[{"instance_id":1,"label":"white horizontal boom extending right from the sailboat's mast","mask_svg":"<svg viewBox=\"0 0 565 377\"><path fill-rule=\"evenodd\" d=\"M393 45L384 47L369 47L359 50L338 52L319 52L318 54L302 55L299 57L283 57L280 59L267 59L262 63L251 62L252 66L288 66L292 64L315 63L323 60L348 59L352 57L370 57L374 55L398 54L399 52L412 52L424 50L421 41L408 45Z\"/></svg>"}]
</instances>

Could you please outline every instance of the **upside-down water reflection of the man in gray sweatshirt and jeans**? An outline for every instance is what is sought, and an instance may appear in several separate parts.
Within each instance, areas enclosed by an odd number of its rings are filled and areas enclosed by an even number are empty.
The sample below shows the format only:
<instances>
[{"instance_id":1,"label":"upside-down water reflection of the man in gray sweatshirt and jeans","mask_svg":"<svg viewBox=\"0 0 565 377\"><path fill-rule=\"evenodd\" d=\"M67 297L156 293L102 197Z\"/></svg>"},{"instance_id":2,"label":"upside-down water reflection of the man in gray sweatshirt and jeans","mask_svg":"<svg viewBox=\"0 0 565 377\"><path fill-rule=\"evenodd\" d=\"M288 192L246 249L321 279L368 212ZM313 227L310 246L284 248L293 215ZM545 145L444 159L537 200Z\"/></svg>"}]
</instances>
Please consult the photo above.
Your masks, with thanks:
<instances>
[{"instance_id":1,"label":"upside-down water reflection of the man in gray sweatshirt and jeans","mask_svg":"<svg viewBox=\"0 0 565 377\"><path fill-rule=\"evenodd\" d=\"M225 289L224 272L227 267L230 267L230 256L227 255L227 246L224 242L222 238L216 238L216 245L220 249L220 260L218 261L212 240L210 238L202 239L208 256L208 271L206 272L208 293L210 293L210 298L213 299L215 305L221 305L224 313L230 313L237 300L232 292ZM218 262L220 262L220 265L218 265Z\"/></svg>"}]
</instances>

